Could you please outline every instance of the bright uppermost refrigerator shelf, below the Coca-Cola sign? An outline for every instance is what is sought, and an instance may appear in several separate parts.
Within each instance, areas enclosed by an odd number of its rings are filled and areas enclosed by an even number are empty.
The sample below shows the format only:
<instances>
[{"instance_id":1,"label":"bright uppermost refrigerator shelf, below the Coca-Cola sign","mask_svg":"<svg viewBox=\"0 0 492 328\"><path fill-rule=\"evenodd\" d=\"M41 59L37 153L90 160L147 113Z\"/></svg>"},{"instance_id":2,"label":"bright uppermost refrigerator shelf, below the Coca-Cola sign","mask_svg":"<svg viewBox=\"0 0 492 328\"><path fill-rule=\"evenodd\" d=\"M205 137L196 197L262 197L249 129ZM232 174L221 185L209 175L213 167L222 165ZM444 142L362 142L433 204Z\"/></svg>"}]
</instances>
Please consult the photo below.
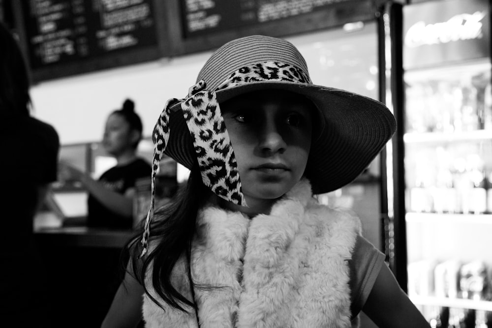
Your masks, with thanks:
<instances>
[{"instance_id":1,"label":"bright uppermost refrigerator shelf, below the Coca-Cola sign","mask_svg":"<svg viewBox=\"0 0 492 328\"><path fill-rule=\"evenodd\" d=\"M492 130L475 130L463 132L422 132L405 133L403 142L406 144L444 144L455 142L492 140Z\"/></svg>"}]
</instances>

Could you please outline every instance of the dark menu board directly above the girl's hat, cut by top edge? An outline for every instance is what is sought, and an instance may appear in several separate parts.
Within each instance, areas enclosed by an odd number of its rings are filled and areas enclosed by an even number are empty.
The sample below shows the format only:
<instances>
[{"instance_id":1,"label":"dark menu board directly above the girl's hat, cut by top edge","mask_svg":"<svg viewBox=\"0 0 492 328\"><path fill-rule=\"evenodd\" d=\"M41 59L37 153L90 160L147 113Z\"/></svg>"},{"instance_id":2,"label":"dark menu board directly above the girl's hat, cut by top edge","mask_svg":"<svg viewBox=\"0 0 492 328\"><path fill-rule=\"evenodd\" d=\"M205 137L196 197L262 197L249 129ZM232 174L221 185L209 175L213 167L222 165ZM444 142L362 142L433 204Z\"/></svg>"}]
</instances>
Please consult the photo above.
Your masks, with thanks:
<instances>
[{"instance_id":1,"label":"dark menu board directly above the girl's hat, cut by top edge","mask_svg":"<svg viewBox=\"0 0 492 328\"><path fill-rule=\"evenodd\" d=\"M184 0L184 36L276 21L347 1L350 0Z\"/></svg>"}]
</instances>

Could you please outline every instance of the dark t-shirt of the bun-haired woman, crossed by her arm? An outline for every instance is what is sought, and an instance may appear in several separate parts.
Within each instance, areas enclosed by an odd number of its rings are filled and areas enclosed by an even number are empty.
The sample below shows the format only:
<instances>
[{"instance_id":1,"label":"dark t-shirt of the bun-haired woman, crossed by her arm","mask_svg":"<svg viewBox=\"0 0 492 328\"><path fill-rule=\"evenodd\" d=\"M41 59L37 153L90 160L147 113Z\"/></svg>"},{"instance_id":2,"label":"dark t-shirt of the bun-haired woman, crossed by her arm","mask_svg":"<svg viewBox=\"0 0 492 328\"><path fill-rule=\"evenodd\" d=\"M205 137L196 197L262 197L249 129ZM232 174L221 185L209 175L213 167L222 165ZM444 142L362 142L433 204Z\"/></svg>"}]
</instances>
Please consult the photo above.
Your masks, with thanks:
<instances>
[{"instance_id":1,"label":"dark t-shirt of the bun-haired woman, crossed by her arm","mask_svg":"<svg viewBox=\"0 0 492 328\"><path fill-rule=\"evenodd\" d=\"M152 174L151 165L145 160L138 158L133 162L115 166L104 172L99 178L104 186L112 191L124 194L127 189L135 186L135 182L140 178L149 178ZM131 229L132 217L124 217L116 214L104 205L99 203L92 195L88 199L88 218L87 225L90 227L104 227L113 229Z\"/></svg>"}]
</instances>

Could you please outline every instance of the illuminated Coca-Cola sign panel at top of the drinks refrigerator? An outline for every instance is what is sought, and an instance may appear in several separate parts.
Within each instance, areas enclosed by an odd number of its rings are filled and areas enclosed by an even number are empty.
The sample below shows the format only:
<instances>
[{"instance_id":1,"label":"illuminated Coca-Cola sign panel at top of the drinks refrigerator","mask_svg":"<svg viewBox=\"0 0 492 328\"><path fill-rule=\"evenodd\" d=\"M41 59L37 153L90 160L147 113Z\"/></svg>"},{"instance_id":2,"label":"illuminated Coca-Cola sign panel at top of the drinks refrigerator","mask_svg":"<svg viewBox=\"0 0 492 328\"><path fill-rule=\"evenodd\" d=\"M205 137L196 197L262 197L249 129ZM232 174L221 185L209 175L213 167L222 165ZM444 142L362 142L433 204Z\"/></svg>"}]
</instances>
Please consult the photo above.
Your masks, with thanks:
<instances>
[{"instance_id":1,"label":"illuminated Coca-Cola sign panel at top of the drinks refrigerator","mask_svg":"<svg viewBox=\"0 0 492 328\"><path fill-rule=\"evenodd\" d=\"M490 56L487 0L433 1L404 7L405 69Z\"/></svg>"}]
</instances>

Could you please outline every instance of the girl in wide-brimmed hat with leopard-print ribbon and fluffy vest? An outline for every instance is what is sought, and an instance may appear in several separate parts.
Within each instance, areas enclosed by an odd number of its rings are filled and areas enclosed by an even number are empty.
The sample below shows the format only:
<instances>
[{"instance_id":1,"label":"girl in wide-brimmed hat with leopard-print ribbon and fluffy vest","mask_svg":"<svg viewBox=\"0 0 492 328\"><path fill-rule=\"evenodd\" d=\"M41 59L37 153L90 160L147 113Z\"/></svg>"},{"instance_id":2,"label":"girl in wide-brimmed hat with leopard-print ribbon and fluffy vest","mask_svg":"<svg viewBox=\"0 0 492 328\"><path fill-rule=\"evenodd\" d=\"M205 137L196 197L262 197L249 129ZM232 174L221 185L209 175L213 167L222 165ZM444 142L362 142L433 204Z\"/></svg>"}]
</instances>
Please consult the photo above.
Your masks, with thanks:
<instances>
[{"instance_id":1,"label":"girl in wide-brimmed hat with leopard-print ribbon and fluffy vest","mask_svg":"<svg viewBox=\"0 0 492 328\"><path fill-rule=\"evenodd\" d=\"M353 214L317 203L355 179L395 132L381 103L315 86L289 42L233 40L154 128L191 169L149 211L103 327L429 327ZM152 219L152 221L151 221ZM141 242L139 242L141 241Z\"/></svg>"}]
</instances>

